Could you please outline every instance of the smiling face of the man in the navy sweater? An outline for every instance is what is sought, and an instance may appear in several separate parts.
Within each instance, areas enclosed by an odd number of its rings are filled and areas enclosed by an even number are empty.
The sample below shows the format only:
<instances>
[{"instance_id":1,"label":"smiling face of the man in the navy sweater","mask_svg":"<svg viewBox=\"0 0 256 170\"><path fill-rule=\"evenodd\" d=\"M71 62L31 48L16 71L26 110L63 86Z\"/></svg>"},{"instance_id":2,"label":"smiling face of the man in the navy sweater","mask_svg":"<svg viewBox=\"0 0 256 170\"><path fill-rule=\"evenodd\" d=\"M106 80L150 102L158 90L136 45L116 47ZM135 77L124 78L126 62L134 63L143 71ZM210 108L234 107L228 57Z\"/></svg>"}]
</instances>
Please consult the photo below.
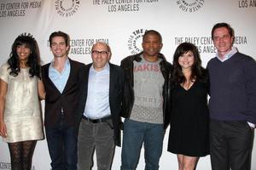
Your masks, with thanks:
<instances>
[{"instance_id":1,"label":"smiling face of the man in the navy sweater","mask_svg":"<svg viewBox=\"0 0 256 170\"><path fill-rule=\"evenodd\" d=\"M223 57L230 52L234 37L230 36L230 32L226 27L216 28L212 38L214 46L218 49L219 57Z\"/></svg>"}]
</instances>

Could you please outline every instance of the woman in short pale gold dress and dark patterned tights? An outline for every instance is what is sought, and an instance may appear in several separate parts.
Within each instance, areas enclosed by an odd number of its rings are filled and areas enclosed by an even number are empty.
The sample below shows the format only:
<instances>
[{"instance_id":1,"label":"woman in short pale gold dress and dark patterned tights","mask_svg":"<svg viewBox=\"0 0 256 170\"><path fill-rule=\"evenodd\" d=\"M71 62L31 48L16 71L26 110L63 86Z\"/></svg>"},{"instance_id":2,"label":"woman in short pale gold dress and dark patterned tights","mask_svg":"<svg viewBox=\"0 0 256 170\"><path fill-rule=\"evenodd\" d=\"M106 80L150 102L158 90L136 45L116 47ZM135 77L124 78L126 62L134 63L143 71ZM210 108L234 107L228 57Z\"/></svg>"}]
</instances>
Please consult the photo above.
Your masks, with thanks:
<instances>
[{"instance_id":1,"label":"woman in short pale gold dress and dark patterned tights","mask_svg":"<svg viewBox=\"0 0 256 170\"><path fill-rule=\"evenodd\" d=\"M44 139L40 70L37 42L21 34L0 68L0 135L9 145L12 170L30 170L37 140Z\"/></svg>"}]
</instances>

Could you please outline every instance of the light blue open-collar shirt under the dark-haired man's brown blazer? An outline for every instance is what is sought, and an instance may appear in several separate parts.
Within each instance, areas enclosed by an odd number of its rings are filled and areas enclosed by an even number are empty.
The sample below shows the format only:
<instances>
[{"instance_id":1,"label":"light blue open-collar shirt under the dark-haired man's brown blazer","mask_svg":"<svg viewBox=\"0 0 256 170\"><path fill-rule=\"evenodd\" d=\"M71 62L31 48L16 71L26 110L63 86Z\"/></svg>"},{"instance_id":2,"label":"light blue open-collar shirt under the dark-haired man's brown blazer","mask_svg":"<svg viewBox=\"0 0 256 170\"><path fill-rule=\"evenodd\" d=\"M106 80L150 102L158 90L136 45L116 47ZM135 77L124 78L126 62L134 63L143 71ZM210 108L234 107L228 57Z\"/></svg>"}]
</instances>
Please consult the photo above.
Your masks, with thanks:
<instances>
[{"instance_id":1,"label":"light blue open-collar shirt under the dark-haired man's brown blazer","mask_svg":"<svg viewBox=\"0 0 256 170\"><path fill-rule=\"evenodd\" d=\"M55 87L60 91L62 94L66 84L67 79L70 73L70 62L69 59L66 60L64 69L62 72L57 71L53 67L54 61L52 61L49 65L49 79L55 84Z\"/></svg>"}]
</instances>

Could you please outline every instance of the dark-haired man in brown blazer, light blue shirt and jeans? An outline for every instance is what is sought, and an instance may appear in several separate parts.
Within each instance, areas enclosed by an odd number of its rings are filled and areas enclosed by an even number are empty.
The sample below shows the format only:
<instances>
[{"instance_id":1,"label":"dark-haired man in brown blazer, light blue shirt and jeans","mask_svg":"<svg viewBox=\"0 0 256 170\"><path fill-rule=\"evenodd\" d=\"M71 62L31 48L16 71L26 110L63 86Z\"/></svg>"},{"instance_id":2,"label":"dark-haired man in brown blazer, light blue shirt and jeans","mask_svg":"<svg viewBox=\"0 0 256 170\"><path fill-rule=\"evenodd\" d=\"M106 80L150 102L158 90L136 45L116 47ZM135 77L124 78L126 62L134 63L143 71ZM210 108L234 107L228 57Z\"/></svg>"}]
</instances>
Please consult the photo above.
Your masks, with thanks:
<instances>
[{"instance_id":1,"label":"dark-haired man in brown blazer, light blue shirt and jeans","mask_svg":"<svg viewBox=\"0 0 256 170\"><path fill-rule=\"evenodd\" d=\"M49 37L54 59L42 68L45 96L44 125L52 170L77 169L79 89L84 64L69 59L69 37L61 31Z\"/></svg>"}]
</instances>

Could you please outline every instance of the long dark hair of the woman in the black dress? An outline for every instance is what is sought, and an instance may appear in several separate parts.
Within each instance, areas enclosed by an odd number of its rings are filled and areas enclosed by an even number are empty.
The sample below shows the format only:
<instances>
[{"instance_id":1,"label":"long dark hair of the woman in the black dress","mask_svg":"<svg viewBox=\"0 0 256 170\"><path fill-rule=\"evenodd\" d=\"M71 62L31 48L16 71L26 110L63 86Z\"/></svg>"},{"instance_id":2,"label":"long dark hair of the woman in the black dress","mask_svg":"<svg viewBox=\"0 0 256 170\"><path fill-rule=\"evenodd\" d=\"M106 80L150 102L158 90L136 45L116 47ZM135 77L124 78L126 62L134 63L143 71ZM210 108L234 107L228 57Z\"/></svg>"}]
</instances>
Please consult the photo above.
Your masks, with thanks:
<instances>
[{"instance_id":1,"label":"long dark hair of the woman in the black dress","mask_svg":"<svg viewBox=\"0 0 256 170\"><path fill-rule=\"evenodd\" d=\"M199 80L201 82L207 82L207 71L201 66L201 58L198 49L193 43L183 42L181 43L174 55L172 61L172 73L171 84L177 86L180 83L186 82L186 78L183 75L182 67L178 64L178 58L191 51L194 54L194 65L191 69L190 81Z\"/></svg>"}]
</instances>

